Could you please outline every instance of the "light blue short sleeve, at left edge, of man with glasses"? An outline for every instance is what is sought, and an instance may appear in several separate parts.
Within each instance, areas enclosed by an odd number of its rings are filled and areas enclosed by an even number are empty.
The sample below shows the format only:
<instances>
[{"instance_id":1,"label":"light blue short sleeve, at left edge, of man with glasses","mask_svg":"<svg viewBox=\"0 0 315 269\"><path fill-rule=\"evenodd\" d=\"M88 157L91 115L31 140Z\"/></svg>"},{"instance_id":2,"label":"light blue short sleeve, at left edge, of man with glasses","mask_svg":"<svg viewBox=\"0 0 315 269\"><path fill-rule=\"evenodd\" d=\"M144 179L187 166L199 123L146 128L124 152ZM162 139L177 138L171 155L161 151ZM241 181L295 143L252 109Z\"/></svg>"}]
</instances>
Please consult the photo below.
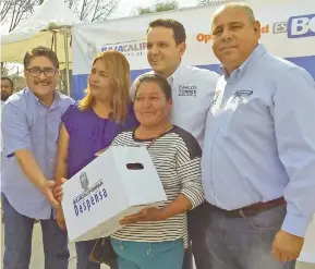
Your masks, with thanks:
<instances>
[{"instance_id":1,"label":"light blue short sleeve, at left edge, of man with glasses","mask_svg":"<svg viewBox=\"0 0 315 269\"><path fill-rule=\"evenodd\" d=\"M2 136L7 157L19 149L31 149L29 131L26 113L13 102L7 102L2 108Z\"/></svg>"}]
</instances>

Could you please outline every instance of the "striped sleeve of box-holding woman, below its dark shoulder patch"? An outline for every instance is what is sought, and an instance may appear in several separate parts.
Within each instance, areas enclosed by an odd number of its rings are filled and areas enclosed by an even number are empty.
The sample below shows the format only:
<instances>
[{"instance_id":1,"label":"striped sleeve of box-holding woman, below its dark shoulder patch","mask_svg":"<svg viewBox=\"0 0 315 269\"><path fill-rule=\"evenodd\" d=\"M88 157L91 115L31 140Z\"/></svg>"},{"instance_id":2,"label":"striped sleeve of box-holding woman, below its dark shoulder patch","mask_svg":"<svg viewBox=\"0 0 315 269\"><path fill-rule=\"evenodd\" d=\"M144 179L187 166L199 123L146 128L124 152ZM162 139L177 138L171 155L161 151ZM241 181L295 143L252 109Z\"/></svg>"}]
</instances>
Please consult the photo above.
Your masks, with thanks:
<instances>
[{"instance_id":1,"label":"striped sleeve of box-holding woman, below its dark shoulder patch","mask_svg":"<svg viewBox=\"0 0 315 269\"><path fill-rule=\"evenodd\" d=\"M178 167L178 176L182 183L181 194L190 199L193 208L201 205L205 199L202 185L201 158L196 157Z\"/></svg>"}]
</instances>

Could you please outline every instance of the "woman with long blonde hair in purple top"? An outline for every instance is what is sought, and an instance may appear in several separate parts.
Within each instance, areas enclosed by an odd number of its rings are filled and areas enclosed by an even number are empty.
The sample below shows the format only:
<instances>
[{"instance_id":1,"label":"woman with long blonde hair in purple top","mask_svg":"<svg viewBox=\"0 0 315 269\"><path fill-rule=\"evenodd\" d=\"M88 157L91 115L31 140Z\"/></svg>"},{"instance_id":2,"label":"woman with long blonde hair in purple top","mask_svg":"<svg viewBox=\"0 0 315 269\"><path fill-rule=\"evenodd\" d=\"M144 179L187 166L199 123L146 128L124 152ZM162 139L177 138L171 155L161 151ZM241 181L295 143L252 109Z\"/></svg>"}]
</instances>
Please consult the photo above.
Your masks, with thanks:
<instances>
[{"instance_id":1,"label":"woman with long blonde hair in purple top","mask_svg":"<svg viewBox=\"0 0 315 269\"><path fill-rule=\"evenodd\" d=\"M96 57L88 76L86 96L62 115L58 140L56 180L71 179L108 147L114 136L137 125L129 98L130 66L118 51L105 51ZM65 229L62 209L58 224ZM89 261L96 241L77 242L77 269L99 269ZM113 266L112 266L113 268Z\"/></svg>"}]
</instances>

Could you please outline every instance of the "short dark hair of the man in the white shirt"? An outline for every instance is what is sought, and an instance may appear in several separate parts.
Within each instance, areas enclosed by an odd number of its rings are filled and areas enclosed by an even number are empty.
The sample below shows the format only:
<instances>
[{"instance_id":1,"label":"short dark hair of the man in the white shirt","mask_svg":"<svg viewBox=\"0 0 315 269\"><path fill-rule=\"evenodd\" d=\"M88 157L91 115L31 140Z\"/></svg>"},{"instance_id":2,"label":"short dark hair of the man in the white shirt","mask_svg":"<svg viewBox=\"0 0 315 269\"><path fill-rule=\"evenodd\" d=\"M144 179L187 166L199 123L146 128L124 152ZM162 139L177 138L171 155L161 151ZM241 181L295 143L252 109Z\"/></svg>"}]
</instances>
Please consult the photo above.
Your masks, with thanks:
<instances>
[{"instance_id":1,"label":"short dark hair of the man in the white shirt","mask_svg":"<svg viewBox=\"0 0 315 269\"><path fill-rule=\"evenodd\" d=\"M154 27L166 27L166 28L172 29L174 33L174 39L175 39L177 46L186 40L185 28L178 21L174 21L171 19L158 19L149 23L147 33L150 28L154 28Z\"/></svg>"}]
</instances>

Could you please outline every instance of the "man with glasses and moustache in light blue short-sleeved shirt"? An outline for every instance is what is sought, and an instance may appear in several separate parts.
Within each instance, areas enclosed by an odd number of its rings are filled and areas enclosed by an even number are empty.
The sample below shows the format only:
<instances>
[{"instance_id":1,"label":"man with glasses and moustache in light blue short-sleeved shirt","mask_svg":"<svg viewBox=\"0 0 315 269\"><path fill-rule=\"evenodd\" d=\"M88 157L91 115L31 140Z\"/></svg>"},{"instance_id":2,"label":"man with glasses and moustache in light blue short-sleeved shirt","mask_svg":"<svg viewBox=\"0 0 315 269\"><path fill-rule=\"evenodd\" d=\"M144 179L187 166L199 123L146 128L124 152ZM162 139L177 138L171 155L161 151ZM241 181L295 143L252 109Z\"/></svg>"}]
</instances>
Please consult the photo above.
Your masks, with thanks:
<instances>
[{"instance_id":1,"label":"man with glasses and moustache in light blue short-sleeved shirt","mask_svg":"<svg viewBox=\"0 0 315 269\"><path fill-rule=\"evenodd\" d=\"M4 212L3 269L26 269L34 220L43 230L45 269L66 269L68 236L53 220L54 159L60 119L74 101L59 94L59 62L53 51L37 47L24 57L27 87L2 109Z\"/></svg>"}]
</instances>

